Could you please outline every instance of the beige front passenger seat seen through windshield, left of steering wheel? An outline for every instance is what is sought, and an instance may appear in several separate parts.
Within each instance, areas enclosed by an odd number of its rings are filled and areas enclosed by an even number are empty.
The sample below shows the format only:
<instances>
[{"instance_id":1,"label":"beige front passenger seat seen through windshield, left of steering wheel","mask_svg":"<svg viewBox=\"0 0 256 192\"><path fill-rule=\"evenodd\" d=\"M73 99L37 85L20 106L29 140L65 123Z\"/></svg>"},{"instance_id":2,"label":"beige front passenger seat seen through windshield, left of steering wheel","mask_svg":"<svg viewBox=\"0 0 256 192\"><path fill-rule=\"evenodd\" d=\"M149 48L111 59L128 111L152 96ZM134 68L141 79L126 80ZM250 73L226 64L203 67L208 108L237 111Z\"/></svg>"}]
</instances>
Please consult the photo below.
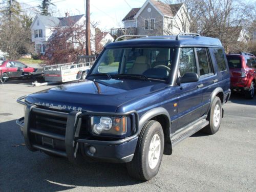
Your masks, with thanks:
<instances>
[{"instance_id":1,"label":"beige front passenger seat seen through windshield, left of steering wheel","mask_svg":"<svg viewBox=\"0 0 256 192\"><path fill-rule=\"evenodd\" d=\"M142 74L149 68L150 66L146 63L146 56L138 56L133 67L127 70L127 74Z\"/></svg>"}]
</instances>

